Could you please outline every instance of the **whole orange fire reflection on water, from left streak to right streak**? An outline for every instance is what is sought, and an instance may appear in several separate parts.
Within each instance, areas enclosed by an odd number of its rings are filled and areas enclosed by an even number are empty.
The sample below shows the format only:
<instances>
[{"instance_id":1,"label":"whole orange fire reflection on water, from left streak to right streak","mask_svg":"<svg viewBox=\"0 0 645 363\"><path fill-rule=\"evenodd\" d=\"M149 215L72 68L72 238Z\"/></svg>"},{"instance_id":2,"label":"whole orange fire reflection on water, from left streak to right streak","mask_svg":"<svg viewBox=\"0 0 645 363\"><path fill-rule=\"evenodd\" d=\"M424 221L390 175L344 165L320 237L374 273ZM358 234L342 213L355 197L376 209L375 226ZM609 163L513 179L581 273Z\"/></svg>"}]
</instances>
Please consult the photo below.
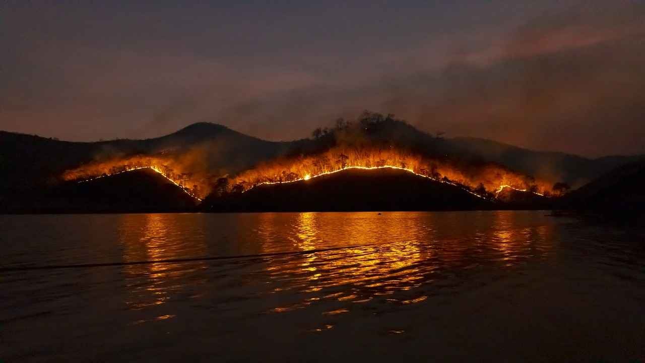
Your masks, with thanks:
<instances>
[{"instance_id":1,"label":"whole orange fire reflection on water, from left streak to right streak","mask_svg":"<svg viewBox=\"0 0 645 363\"><path fill-rule=\"evenodd\" d=\"M417 304L481 265L512 271L548 258L552 228L506 212L131 214L121 228L125 262L247 257L124 265L126 304L155 316L174 315L168 302L202 296L227 309L254 300L261 311L324 307L325 316Z\"/></svg>"}]
</instances>

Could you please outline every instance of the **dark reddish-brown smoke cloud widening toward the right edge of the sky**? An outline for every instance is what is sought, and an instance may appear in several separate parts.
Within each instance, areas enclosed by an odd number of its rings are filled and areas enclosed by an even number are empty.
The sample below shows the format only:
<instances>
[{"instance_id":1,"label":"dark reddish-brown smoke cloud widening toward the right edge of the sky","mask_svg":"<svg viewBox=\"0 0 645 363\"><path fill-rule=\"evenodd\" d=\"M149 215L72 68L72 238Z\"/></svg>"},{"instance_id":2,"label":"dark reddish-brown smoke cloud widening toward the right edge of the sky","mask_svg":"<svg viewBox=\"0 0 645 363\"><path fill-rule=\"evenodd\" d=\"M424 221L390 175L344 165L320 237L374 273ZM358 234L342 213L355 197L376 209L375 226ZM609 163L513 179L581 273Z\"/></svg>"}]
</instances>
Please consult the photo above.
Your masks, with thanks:
<instances>
[{"instance_id":1,"label":"dark reddish-brown smoke cloud widening toward the right edge of the sky","mask_svg":"<svg viewBox=\"0 0 645 363\"><path fill-rule=\"evenodd\" d=\"M361 109L392 112L428 132L491 138L588 156L645 153L643 6L544 16L502 43L452 52L442 65L396 69L350 88L313 85L226 110L271 138L306 135ZM417 59L426 48L406 52ZM288 124L285 129L275 125Z\"/></svg>"}]
</instances>

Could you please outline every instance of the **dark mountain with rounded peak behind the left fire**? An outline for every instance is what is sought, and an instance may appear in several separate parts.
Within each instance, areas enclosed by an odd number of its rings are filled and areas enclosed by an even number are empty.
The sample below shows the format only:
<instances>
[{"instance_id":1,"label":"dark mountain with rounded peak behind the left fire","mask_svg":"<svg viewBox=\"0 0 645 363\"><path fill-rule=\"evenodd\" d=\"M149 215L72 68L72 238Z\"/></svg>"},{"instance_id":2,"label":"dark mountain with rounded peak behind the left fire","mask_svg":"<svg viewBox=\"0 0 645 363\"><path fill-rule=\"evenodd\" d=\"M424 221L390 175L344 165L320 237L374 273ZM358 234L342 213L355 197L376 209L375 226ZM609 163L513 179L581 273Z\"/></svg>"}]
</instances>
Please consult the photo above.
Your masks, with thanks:
<instances>
[{"instance_id":1,"label":"dark mountain with rounded peak behind the left fire","mask_svg":"<svg viewBox=\"0 0 645 363\"><path fill-rule=\"evenodd\" d=\"M146 140L58 141L0 131L0 201L59 183L64 171L91 161L136 154L172 153L213 171L235 173L285 152L289 143L264 141L213 123L195 123Z\"/></svg>"}]
</instances>

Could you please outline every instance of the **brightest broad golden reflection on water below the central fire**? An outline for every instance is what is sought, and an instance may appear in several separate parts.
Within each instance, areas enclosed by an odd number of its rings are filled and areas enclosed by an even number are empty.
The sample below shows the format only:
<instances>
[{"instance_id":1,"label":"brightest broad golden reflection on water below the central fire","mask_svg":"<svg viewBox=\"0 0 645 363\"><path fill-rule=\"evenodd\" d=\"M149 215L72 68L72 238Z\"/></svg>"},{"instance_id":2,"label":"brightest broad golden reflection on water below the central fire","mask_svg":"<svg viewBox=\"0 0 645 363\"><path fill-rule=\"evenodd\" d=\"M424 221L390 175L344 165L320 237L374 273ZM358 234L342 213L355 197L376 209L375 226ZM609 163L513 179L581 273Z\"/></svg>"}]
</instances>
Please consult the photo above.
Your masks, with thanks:
<instances>
[{"instance_id":1,"label":"brightest broad golden reflection on water below the central fire","mask_svg":"<svg viewBox=\"0 0 645 363\"><path fill-rule=\"evenodd\" d=\"M419 225L418 218L404 218L405 214L388 213L389 216L383 218L373 218L372 214L350 213L350 218L341 218L338 223L330 223L328 219L338 218L339 214L295 214L288 238L298 251L326 249L330 246L325 241L337 241L339 236L347 248L316 251L298 258L273 258L266 271L281 283L275 291L295 289L315 293L348 286L349 289L323 298L367 302L375 295L390 295L417 286L420 276L416 265L427 256L418 242L419 238L428 240L428 230ZM275 228L279 229L279 226ZM264 225L262 229L266 232L270 226ZM392 238L392 242L382 240L384 237ZM265 241L265 244L271 242ZM285 279L288 280L286 287L282 286ZM317 300L319 298L303 300L274 311L290 311ZM417 296L409 302L422 300Z\"/></svg>"}]
</instances>

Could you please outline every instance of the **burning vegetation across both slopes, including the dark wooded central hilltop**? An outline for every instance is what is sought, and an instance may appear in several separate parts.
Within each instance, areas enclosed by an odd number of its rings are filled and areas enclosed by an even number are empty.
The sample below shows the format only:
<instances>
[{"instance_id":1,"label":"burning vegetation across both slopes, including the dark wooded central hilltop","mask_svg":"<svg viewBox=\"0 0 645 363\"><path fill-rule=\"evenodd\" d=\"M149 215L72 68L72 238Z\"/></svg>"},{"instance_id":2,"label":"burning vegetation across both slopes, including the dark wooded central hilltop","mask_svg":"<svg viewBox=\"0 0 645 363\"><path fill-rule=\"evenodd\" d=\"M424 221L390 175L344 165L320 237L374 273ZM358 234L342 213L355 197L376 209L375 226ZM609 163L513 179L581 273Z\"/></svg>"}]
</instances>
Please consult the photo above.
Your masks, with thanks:
<instances>
[{"instance_id":1,"label":"burning vegetation across both slopes, including the dark wooded central hilltop","mask_svg":"<svg viewBox=\"0 0 645 363\"><path fill-rule=\"evenodd\" d=\"M194 198L248 191L257 185L292 183L346 169L401 169L437 182L461 187L481 198L495 199L505 189L560 196L563 183L536 180L493 163L462 160L441 150L440 136L415 130L392 115L365 112L356 122L338 119L332 129L317 129L313 138L295 141L286 155L228 177L191 167L179 156L137 155L95 162L66 171L64 180L87 181L150 168ZM439 145L439 146L438 146Z\"/></svg>"}]
</instances>

